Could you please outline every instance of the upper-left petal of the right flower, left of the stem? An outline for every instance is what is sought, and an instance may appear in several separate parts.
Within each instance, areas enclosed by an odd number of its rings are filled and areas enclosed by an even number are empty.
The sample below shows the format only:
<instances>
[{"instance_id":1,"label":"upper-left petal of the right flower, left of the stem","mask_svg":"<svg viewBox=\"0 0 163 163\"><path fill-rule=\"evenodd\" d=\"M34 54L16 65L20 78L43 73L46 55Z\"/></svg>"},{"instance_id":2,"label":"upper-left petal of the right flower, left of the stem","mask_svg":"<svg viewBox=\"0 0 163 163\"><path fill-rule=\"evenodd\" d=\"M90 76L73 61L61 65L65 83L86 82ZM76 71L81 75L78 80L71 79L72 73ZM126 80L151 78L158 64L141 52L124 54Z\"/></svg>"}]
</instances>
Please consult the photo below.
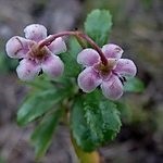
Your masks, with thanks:
<instances>
[{"instance_id":1,"label":"upper-left petal of the right flower, left of the stem","mask_svg":"<svg viewBox=\"0 0 163 163\"><path fill-rule=\"evenodd\" d=\"M77 62L85 66L92 66L95 63L100 61L99 53L93 49L84 49L77 55Z\"/></svg>"}]
</instances>

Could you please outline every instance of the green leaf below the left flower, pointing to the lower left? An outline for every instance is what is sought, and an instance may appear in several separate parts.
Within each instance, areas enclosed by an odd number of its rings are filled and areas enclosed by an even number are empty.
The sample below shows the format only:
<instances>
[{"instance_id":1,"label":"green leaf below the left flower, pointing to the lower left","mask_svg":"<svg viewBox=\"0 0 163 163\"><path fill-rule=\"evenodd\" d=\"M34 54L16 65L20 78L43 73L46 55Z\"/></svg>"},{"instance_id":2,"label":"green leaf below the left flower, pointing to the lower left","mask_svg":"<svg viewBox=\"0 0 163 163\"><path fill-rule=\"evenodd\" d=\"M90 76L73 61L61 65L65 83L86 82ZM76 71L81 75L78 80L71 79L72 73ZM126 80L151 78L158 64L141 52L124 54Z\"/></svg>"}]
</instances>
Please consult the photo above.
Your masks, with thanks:
<instances>
[{"instance_id":1,"label":"green leaf below the left flower, pointing to the lower left","mask_svg":"<svg viewBox=\"0 0 163 163\"><path fill-rule=\"evenodd\" d=\"M22 126L41 116L67 96L65 89L39 91L30 96L17 112L17 123Z\"/></svg>"}]
</instances>

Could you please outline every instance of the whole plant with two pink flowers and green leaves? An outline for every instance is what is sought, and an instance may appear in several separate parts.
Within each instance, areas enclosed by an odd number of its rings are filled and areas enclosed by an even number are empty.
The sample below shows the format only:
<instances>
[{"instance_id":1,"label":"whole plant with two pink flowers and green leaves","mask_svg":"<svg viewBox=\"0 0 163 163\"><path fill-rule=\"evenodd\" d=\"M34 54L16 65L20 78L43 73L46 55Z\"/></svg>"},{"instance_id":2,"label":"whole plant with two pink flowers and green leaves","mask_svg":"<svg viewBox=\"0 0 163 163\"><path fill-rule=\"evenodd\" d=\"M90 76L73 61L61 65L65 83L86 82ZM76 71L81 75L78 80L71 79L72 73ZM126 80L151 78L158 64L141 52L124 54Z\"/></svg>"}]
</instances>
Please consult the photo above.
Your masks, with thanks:
<instances>
[{"instance_id":1,"label":"whole plant with two pink flowers and green leaves","mask_svg":"<svg viewBox=\"0 0 163 163\"><path fill-rule=\"evenodd\" d=\"M141 91L142 85L138 79L130 82L137 72L135 63L121 59L123 49L109 43L111 26L110 12L95 10L86 18L84 32L47 37L45 26L33 24L24 29L25 38L14 36L7 42L8 55L21 59L18 77L33 87L17 112L17 123L39 122L32 134L37 158L46 153L61 121L70 127L83 162L85 152L118 134L122 104L117 100L123 91ZM64 36L68 36L67 46Z\"/></svg>"}]
</instances>

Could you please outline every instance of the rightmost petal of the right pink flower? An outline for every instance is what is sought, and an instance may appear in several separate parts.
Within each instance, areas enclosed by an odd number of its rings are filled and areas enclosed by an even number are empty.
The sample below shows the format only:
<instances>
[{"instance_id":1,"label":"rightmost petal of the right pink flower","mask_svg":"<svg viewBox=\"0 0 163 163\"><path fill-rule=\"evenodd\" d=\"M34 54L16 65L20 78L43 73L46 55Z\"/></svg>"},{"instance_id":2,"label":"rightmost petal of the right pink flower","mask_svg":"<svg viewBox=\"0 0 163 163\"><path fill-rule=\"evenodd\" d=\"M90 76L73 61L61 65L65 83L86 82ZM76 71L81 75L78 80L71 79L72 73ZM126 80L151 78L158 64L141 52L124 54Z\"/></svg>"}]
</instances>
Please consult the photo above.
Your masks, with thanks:
<instances>
[{"instance_id":1,"label":"rightmost petal of the right pink flower","mask_svg":"<svg viewBox=\"0 0 163 163\"><path fill-rule=\"evenodd\" d=\"M131 60L120 59L114 71L122 76L134 77L137 73L137 67Z\"/></svg>"}]
</instances>

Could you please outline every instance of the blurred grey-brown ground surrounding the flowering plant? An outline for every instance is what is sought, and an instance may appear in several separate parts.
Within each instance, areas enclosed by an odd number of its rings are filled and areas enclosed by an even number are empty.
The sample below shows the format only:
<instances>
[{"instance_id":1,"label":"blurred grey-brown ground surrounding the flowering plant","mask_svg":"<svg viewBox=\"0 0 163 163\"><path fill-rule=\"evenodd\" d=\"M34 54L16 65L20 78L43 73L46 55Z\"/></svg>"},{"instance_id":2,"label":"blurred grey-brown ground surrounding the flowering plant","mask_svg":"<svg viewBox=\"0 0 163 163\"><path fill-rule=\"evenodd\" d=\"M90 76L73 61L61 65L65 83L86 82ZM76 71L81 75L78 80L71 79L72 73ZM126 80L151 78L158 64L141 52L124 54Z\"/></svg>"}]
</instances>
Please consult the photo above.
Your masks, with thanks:
<instances>
[{"instance_id":1,"label":"blurred grey-brown ground surrounding the flowering plant","mask_svg":"<svg viewBox=\"0 0 163 163\"><path fill-rule=\"evenodd\" d=\"M163 0L0 0L0 163L35 163L29 143L33 126L17 127L18 105L28 91L15 74L17 61L5 55L5 41L23 36L26 25L43 24L49 33L83 28L92 9L113 15L111 42L135 61L145 84L126 93L123 127L114 142L99 149L104 163L163 162ZM42 163L76 163L66 127L61 126Z\"/></svg>"}]
</instances>

